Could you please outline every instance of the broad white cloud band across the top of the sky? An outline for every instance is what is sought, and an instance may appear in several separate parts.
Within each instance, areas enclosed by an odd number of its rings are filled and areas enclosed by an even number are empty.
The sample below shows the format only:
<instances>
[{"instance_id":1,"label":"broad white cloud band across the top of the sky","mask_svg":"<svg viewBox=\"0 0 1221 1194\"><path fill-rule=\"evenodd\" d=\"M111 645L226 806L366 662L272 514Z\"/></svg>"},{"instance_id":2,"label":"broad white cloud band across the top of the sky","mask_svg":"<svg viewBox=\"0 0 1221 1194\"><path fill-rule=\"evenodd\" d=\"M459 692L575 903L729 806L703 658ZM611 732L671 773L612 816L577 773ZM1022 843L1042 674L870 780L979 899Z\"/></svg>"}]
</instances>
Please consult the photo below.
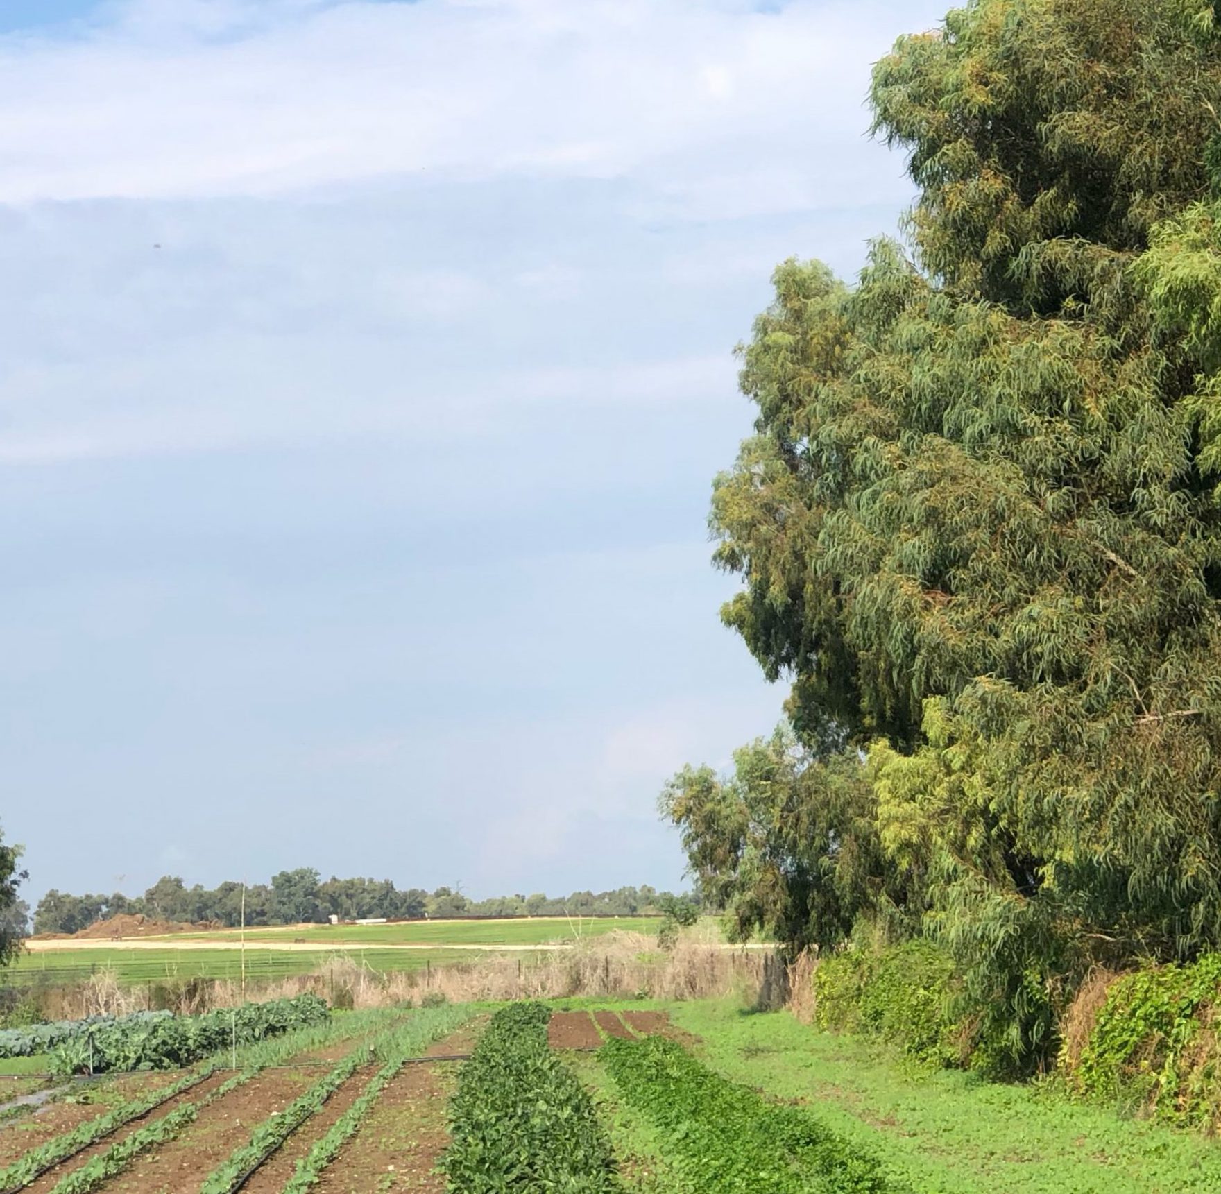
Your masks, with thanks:
<instances>
[{"instance_id":1,"label":"broad white cloud band across the top of the sky","mask_svg":"<svg viewBox=\"0 0 1221 1194\"><path fill-rule=\"evenodd\" d=\"M114 13L71 42L0 42L0 201L526 172L652 178L673 201L707 186L718 215L758 210L769 190L835 204L879 160L860 137L868 63L922 23L896 28L877 4L691 0Z\"/></svg>"}]
</instances>

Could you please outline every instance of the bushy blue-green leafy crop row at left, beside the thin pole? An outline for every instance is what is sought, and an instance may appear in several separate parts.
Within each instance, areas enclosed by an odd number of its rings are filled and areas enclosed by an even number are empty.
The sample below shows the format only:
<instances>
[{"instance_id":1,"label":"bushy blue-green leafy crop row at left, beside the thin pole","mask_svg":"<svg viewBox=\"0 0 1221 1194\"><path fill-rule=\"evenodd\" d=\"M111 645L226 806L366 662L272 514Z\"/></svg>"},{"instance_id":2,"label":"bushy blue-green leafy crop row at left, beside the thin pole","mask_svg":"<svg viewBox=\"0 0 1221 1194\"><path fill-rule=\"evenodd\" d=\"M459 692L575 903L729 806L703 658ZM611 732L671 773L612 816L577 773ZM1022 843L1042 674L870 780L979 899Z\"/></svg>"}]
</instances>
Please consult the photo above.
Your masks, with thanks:
<instances>
[{"instance_id":1,"label":"bushy blue-green leafy crop row at left, beside the thin pole","mask_svg":"<svg viewBox=\"0 0 1221 1194\"><path fill-rule=\"evenodd\" d=\"M306 994L204 1016L122 1019L63 1041L51 1054L50 1068L61 1074L176 1069L226 1047L320 1023L328 1015L324 1000Z\"/></svg>"}]
</instances>

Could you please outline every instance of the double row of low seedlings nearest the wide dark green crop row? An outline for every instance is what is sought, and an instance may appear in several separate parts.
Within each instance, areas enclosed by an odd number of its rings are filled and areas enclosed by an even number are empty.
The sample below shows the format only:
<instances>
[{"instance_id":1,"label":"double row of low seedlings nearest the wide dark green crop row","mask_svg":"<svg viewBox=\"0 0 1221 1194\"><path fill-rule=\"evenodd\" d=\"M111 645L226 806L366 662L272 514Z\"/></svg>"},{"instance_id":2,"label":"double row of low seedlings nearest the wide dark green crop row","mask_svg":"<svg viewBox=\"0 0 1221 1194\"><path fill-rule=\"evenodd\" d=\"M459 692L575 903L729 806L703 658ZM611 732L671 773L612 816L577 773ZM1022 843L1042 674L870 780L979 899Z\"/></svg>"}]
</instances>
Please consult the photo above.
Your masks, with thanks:
<instances>
[{"instance_id":1,"label":"double row of low seedlings nearest the wide dark green crop row","mask_svg":"<svg viewBox=\"0 0 1221 1194\"><path fill-rule=\"evenodd\" d=\"M315 1116L326 1101L370 1060L385 1062L374 1074L361 1096L317 1140L309 1154L297 1162L287 1188L309 1189L325 1166L357 1131L372 1109L386 1083L407 1058L441 1037L446 1037L470 1018L464 1007L421 1008L404 1022L381 1034L369 1047L361 1045L338 1062L299 1099L282 1112L256 1124L247 1144L234 1149L206 1178L200 1194L236 1194L298 1129ZM370 1098L371 1095L371 1098ZM359 1109L359 1110L358 1110Z\"/></svg>"}]
</instances>

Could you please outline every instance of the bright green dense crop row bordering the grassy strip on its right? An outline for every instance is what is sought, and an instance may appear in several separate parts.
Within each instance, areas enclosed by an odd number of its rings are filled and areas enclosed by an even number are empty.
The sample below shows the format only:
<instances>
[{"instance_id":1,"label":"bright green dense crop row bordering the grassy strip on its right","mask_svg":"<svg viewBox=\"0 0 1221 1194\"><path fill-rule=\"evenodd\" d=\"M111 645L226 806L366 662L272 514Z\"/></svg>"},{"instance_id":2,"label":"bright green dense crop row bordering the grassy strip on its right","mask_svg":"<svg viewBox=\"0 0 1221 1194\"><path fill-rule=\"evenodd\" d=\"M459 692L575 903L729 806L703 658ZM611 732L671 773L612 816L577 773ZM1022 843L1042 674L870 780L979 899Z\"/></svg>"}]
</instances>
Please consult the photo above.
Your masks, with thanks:
<instances>
[{"instance_id":1,"label":"bright green dense crop row bordering the grassy strip on its right","mask_svg":"<svg viewBox=\"0 0 1221 1194\"><path fill-rule=\"evenodd\" d=\"M667 1135L675 1171L705 1194L907 1192L811 1112L768 1102L673 1040L610 1040L600 1056L624 1102Z\"/></svg>"}]
</instances>

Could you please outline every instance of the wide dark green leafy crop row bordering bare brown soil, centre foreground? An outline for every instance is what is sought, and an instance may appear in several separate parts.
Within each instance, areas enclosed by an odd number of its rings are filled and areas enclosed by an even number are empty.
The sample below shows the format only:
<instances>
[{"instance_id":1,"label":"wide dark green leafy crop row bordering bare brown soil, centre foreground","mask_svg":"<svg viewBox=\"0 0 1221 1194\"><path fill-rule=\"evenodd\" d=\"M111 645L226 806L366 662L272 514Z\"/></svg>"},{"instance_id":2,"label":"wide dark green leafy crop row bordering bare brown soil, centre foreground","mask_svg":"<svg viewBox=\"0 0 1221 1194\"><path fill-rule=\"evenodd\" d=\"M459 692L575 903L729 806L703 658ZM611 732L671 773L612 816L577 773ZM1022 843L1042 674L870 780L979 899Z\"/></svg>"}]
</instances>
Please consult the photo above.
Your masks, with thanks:
<instances>
[{"instance_id":1,"label":"wide dark green leafy crop row bordering bare brown soil, centre foreground","mask_svg":"<svg viewBox=\"0 0 1221 1194\"><path fill-rule=\"evenodd\" d=\"M620 1189L587 1091L547 1044L549 1018L542 1004L510 1004L492 1017L463 1067L442 1160L451 1189Z\"/></svg>"}]
</instances>

